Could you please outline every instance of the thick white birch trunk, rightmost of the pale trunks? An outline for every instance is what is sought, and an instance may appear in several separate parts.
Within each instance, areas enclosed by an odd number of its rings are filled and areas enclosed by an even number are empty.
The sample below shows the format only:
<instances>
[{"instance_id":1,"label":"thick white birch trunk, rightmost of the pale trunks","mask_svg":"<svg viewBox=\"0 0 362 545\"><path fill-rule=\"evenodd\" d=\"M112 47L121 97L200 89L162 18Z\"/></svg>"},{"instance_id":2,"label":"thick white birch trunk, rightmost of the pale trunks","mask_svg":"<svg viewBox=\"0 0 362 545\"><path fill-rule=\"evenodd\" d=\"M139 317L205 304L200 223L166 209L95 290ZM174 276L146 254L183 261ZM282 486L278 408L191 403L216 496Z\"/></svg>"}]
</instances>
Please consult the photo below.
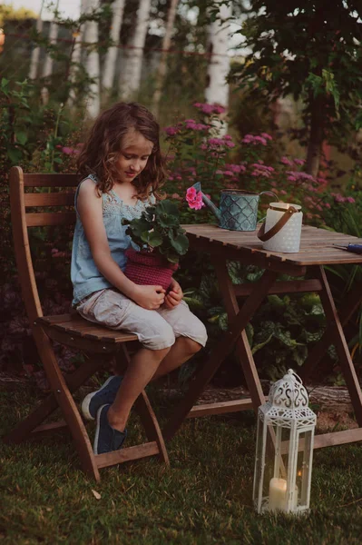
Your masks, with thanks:
<instances>
[{"instance_id":1,"label":"thick white birch trunk, rightmost of the pale trunks","mask_svg":"<svg viewBox=\"0 0 362 545\"><path fill-rule=\"evenodd\" d=\"M230 39L230 17L232 6L220 5L219 18L209 26L210 63L208 66L208 85L205 90L206 102L220 104L225 108L229 105L229 84L226 78L230 72L228 43ZM227 124L217 127L218 133L227 132Z\"/></svg>"}]
</instances>

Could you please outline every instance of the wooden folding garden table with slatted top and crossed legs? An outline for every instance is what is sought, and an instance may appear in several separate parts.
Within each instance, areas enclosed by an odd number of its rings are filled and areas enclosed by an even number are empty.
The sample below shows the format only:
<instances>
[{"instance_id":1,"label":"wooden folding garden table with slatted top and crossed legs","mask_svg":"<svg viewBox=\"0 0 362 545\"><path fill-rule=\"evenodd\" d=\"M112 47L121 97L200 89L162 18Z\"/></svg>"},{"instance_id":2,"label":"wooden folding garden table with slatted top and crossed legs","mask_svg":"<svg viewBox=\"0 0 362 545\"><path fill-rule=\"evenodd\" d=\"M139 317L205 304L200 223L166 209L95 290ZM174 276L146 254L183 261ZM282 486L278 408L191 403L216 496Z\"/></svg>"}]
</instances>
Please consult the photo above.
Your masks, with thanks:
<instances>
[{"instance_id":1,"label":"wooden folding garden table with slatted top and crossed legs","mask_svg":"<svg viewBox=\"0 0 362 545\"><path fill-rule=\"evenodd\" d=\"M210 253L230 325L229 331L220 335L220 341L210 353L208 362L205 362L195 378L191 380L189 391L176 407L170 421L167 422L163 430L164 437L170 439L180 428L185 418L242 411L251 408L258 411L259 405L265 402L265 397L261 390L258 372L245 332L247 323L268 294L319 292L327 317L327 328L323 337L309 353L308 360L303 365L300 374L303 380L306 381L311 369L318 364L328 350L328 346L333 343L338 352L339 362L359 427L354 430L318 435L315 438L314 446L315 448L321 448L361 441L362 392L347 347L343 326L346 325L362 301L362 282L348 293L337 312L324 271L324 265L362 264L362 255L333 247L333 243L362 244L362 239L304 225L298 253L275 253L262 249L262 243L257 237L257 231L227 231L208 224L183 225L183 227L188 234L193 250ZM259 282L233 285L227 270L228 260L247 265L257 265L265 269L265 271ZM304 276L306 272L308 272L307 280L277 282L281 274L300 277ZM237 300L238 297L245 298L241 307ZM237 355L248 384L250 399L194 406L195 401L200 397L201 392L234 346L236 346Z\"/></svg>"}]
</instances>

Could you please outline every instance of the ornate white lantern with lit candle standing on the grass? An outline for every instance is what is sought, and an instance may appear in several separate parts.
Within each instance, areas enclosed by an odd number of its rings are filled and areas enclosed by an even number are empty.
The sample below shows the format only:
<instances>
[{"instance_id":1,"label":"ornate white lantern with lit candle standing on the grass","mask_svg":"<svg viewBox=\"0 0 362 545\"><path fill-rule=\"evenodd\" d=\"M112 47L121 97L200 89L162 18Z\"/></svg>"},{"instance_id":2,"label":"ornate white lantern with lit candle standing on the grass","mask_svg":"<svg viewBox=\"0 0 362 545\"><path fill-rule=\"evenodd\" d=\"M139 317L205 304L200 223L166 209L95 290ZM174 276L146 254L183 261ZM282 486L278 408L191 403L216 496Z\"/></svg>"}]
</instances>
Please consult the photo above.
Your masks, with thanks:
<instances>
[{"instance_id":1,"label":"ornate white lantern with lit candle standing on the grass","mask_svg":"<svg viewBox=\"0 0 362 545\"><path fill-rule=\"evenodd\" d=\"M308 510L316 421L302 381L289 369L258 411L253 499L259 513Z\"/></svg>"}]
</instances>

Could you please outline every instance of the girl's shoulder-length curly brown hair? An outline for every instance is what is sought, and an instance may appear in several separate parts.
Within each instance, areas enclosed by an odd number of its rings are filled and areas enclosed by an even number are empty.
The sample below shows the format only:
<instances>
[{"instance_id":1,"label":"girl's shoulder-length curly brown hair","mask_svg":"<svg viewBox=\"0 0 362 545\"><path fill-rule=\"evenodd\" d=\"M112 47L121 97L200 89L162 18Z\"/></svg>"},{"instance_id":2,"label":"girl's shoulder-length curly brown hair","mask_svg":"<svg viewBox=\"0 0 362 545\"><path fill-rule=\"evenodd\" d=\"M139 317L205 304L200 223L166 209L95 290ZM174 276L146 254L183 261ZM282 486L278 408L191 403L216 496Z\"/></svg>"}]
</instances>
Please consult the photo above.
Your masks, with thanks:
<instances>
[{"instance_id":1,"label":"girl's shoulder-length curly brown hair","mask_svg":"<svg viewBox=\"0 0 362 545\"><path fill-rule=\"evenodd\" d=\"M113 188L118 178L117 163L122 141L132 128L153 144L145 168L132 181L137 196L146 199L151 188L156 193L164 181L166 174L160 149L160 126L155 117L142 104L117 103L97 117L77 161L79 176L85 178L90 173L95 174L99 193L108 193Z\"/></svg>"}]
</instances>

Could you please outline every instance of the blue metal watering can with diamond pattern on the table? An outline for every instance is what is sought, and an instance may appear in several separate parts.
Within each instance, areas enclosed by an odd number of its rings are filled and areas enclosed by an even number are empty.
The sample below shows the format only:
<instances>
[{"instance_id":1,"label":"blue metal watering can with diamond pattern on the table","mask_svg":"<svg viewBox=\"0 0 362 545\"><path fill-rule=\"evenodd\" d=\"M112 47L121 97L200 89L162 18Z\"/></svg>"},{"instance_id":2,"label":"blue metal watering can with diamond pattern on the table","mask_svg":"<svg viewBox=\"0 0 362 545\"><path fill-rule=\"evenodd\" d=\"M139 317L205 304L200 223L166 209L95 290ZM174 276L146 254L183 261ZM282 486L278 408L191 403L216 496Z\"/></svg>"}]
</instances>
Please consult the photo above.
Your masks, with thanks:
<instances>
[{"instance_id":1,"label":"blue metal watering can with diamond pattern on the table","mask_svg":"<svg viewBox=\"0 0 362 545\"><path fill-rule=\"evenodd\" d=\"M201 183L192 185L197 192L201 192ZM220 196L220 208L201 192L202 201L209 206L212 213L219 220L221 229L231 231L255 231L258 223L259 196L272 195L279 201L278 196L271 191L253 193L241 189L223 189Z\"/></svg>"}]
</instances>

